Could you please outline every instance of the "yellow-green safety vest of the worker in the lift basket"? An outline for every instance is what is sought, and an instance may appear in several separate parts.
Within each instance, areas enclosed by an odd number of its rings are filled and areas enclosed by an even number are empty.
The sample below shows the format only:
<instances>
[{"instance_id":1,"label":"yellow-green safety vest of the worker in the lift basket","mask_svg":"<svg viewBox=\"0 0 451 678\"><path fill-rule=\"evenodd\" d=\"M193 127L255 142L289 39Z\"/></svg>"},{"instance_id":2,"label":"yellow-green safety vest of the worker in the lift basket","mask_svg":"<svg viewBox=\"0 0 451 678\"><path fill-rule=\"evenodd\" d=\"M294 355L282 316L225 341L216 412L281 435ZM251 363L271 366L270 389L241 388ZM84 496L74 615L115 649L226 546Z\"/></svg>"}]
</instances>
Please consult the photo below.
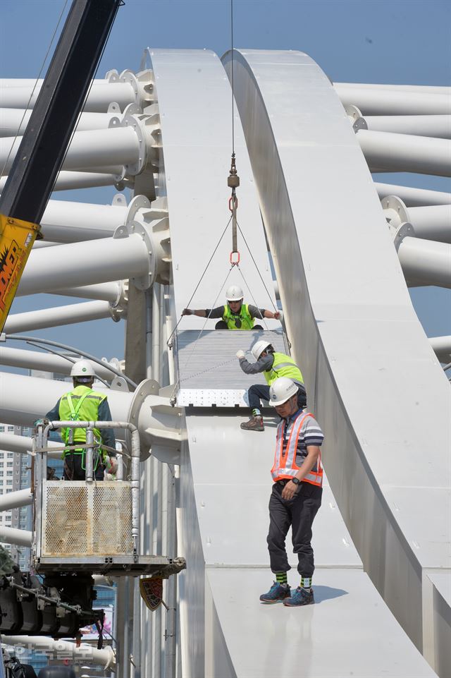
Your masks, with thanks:
<instances>
[{"instance_id":1,"label":"yellow-green safety vest of the worker in the lift basket","mask_svg":"<svg viewBox=\"0 0 451 678\"><path fill-rule=\"evenodd\" d=\"M97 421L99 419L99 405L106 400L104 393L93 391L87 386L79 385L68 393L61 396L59 401L58 414L61 421ZM85 428L62 428L61 437L65 444L75 442L86 442ZM98 428L94 428L94 442L101 444L101 434ZM66 450L63 452L63 458L66 454L83 454L85 449ZM101 451L102 456L106 453Z\"/></svg>"}]
</instances>

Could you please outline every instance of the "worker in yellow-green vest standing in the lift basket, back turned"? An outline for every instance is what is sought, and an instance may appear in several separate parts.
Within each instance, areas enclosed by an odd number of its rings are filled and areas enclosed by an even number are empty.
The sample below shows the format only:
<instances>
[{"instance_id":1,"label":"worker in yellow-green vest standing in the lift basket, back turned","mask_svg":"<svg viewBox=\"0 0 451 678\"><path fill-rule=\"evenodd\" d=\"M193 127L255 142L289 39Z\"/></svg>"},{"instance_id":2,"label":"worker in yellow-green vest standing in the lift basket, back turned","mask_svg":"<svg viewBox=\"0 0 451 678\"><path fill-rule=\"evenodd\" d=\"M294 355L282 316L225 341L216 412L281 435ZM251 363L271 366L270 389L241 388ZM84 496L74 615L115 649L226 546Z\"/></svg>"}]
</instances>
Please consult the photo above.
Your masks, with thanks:
<instances>
[{"instance_id":1,"label":"worker in yellow-green vest standing in the lift basket, back turned","mask_svg":"<svg viewBox=\"0 0 451 678\"><path fill-rule=\"evenodd\" d=\"M92 390L96 376L94 366L90 361L80 360L73 364L70 370L73 380L73 390L65 393L58 400L51 411L47 412L49 421L111 421L111 412L106 394ZM62 428L63 442L73 445L78 442L85 444L85 428ZM96 480L104 480L106 456L109 456L111 468L109 473L116 473L116 440L113 429L94 429L94 476ZM111 449L108 452L102 449L101 444ZM68 449L63 452L65 480L85 480L86 477L86 449Z\"/></svg>"}]
</instances>

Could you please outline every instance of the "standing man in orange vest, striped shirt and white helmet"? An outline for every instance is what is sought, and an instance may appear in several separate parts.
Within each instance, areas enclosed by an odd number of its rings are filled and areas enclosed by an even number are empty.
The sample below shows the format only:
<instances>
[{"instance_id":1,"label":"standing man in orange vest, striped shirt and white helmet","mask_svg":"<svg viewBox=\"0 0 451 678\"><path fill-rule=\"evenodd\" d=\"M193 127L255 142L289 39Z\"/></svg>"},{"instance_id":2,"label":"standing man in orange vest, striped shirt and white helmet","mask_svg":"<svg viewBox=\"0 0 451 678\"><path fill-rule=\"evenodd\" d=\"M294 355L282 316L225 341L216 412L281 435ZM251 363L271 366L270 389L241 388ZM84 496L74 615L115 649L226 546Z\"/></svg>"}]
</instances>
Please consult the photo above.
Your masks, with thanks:
<instances>
[{"instance_id":1,"label":"standing man in orange vest, striped shirt and white helmet","mask_svg":"<svg viewBox=\"0 0 451 678\"><path fill-rule=\"evenodd\" d=\"M321 506L323 468L321 444L323 432L314 416L299 408L297 385L288 377L280 377L269 389L269 401L282 418L277 428L276 454L271 468L273 490L269 500L268 551L271 571L276 581L261 603L278 603L288 607L314 603L311 579L314 553L311 547L311 525ZM293 551L297 554L301 581L290 591L287 572L290 569L285 537L292 530Z\"/></svg>"}]
</instances>

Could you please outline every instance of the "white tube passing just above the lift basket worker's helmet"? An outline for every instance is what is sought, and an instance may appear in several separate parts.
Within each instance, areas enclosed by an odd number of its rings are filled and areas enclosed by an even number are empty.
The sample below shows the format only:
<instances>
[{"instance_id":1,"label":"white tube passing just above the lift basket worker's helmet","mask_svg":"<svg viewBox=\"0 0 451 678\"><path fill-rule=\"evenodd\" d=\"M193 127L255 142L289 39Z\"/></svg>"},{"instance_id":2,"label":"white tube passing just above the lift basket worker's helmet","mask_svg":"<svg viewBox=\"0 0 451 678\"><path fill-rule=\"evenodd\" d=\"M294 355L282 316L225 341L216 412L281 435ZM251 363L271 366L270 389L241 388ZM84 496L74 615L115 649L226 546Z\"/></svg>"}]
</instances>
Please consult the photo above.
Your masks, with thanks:
<instances>
[{"instance_id":1,"label":"white tube passing just above the lift basket worker's helmet","mask_svg":"<svg viewBox=\"0 0 451 678\"><path fill-rule=\"evenodd\" d=\"M14 343L16 343L16 341ZM76 360L77 358L66 360L66 358L63 358L62 356L54 356L51 353L26 351L25 349L10 349L8 346L0 345L0 364L8 365L10 367L24 368L27 370L43 370L44 372L70 375L70 370ZM95 371L102 379L111 381L116 377L111 370L103 368L98 364L95 366ZM5 434L0 434L0 444L2 444L1 435ZM28 447L28 449L31 449L31 447Z\"/></svg>"}]
</instances>

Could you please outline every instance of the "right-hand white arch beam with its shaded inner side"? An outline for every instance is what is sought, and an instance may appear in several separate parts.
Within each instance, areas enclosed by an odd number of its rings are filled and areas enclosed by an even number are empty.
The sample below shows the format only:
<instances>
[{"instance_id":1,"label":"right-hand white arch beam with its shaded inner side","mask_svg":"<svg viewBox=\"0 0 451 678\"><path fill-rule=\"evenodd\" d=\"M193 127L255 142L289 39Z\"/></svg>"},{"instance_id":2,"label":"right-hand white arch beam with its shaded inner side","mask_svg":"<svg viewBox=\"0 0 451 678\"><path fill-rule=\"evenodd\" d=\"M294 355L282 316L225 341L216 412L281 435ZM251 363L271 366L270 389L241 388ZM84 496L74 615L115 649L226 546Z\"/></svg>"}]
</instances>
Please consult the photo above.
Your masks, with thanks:
<instances>
[{"instance_id":1,"label":"right-hand white arch beam with its shaded inner side","mask_svg":"<svg viewBox=\"0 0 451 678\"><path fill-rule=\"evenodd\" d=\"M225 63L230 77L230 54ZM352 94L349 103L362 107ZM440 95L389 92L380 99L380 109L366 112L442 112ZM443 516L450 510L443 448L451 405L447 379L381 228L359 133L352 132L326 75L299 52L235 52L235 100L295 358L330 441L324 450L330 485L366 571L423 648L423 571L451 567L439 536L447 532ZM389 100L400 109L388 110ZM409 100L414 111L405 110ZM323 200L325 185L334 186L333 200ZM354 224L362 218L365 229L356 237ZM321 234L312 224L321 224ZM393 412L394 418L387 416ZM424 465L429 417L436 425L427 443L431 473ZM440 468L440 487L432 468ZM421 507L419 487L428 497Z\"/></svg>"}]
</instances>

